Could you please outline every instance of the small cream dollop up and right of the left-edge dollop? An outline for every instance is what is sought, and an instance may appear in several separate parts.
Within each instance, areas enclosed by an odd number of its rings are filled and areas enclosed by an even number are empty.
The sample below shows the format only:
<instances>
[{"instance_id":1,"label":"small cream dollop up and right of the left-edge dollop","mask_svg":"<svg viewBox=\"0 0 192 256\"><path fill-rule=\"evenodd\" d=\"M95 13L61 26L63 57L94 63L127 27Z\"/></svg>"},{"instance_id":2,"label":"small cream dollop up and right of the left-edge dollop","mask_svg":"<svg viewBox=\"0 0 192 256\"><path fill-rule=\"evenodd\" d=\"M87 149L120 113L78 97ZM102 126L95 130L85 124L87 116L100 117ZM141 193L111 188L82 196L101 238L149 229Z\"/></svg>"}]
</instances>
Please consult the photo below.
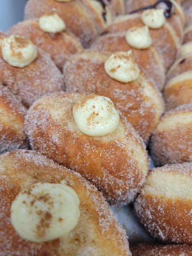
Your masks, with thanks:
<instances>
[{"instance_id":1,"label":"small cream dollop up and right of the left-edge dollop","mask_svg":"<svg viewBox=\"0 0 192 256\"><path fill-rule=\"evenodd\" d=\"M59 33L65 30L66 25L54 10L39 18L39 27L44 32Z\"/></svg>"}]
</instances>

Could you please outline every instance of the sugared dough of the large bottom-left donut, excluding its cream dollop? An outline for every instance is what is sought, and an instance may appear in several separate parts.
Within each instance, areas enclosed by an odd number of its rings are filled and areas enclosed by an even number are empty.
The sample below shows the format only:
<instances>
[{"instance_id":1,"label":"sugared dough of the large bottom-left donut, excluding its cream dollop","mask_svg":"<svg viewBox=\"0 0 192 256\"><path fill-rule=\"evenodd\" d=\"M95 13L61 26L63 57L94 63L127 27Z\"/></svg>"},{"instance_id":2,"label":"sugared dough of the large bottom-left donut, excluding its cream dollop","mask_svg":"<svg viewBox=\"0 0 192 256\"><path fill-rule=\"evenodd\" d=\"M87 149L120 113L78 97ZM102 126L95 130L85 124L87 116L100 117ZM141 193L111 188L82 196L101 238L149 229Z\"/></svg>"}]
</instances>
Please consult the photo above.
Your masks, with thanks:
<instances>
[{"instance_id":1,"label":"sugared dough of the large bottom-left donut, excluding its cream dollop","mask_svg":"<svg viewBox=\"0 0 192 256\"><path fill-rule=\"evenodd\" d=\"M122 226L118 224L101 193L80 174L32 150L15 150L0 156L0 180L1 256L131 255ZM12 201L23 189L27 190L34 183L62 184L62 181L79 197L78 224L69 233L51 241L32 242L21 238L10 218ZM34 201L31 203L32 206Z\"/></svg>"}]
</instances>

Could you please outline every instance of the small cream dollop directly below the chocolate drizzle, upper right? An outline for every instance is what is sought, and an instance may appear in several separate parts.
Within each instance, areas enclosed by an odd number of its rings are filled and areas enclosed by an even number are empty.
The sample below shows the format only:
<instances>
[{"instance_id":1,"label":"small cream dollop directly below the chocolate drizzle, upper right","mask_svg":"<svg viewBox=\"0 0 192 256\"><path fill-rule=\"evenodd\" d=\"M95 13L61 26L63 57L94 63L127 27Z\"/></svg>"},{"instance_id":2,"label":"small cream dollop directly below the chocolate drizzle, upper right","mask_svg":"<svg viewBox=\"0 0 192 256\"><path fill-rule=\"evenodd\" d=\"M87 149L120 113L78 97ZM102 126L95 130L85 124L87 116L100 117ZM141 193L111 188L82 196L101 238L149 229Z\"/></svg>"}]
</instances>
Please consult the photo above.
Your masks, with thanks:
<instances>
[{"instance_id":1,"label":"small cream dollop directly below the chocolate drizzle, upper right","mask_svg":"<svg viewBox=\"0 0 192 256\"><path fill-rule=\"evenodd\" d=\"M164 25L166 18L163 9L148 9L142 12L141 20L144 25L156 29Z\"/></svg>"}]
</instances>

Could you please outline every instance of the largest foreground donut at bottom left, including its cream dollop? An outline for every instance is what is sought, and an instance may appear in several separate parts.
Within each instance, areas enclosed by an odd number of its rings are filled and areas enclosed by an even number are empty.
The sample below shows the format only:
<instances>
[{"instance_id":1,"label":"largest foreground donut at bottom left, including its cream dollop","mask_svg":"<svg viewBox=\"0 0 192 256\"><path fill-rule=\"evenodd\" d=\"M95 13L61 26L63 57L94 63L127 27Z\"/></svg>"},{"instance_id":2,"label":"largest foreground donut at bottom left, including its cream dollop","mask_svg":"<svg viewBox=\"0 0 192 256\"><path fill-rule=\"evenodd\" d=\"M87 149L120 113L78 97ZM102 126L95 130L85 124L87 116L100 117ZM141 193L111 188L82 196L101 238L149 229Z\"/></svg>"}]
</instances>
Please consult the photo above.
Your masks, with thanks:
<instances>
[{"instance_id":1,"label":"largest foreground donut at bottom left, including its cream dollop","mask_svg":"<svg viewBox=\"0 0 192 256\"><path fill-rule=\"evenodd\" d=\"M131 255L122 226L101 193L80 174L55 164L37 152L23 149L1 155L0 170L2 256ZM60 203L59 197L64 198L63 203ZM61 209L62 204L65 211ZM16 208L17 205L26 209L22 219L18 216L20 209ZM55 207L61 212L54 212ZM70 218L68 211L72 215ZM27 214L33 214L30 220ZM66 219L63 220L63 216ZM65 232L58 236L58 222L65 223L68 219L67 226L63 228ZM74 223L71 223L72 219ZM28 223L23 230L22 222ZM30 222L36 224L32 226ZM49 230L52 230L51 237Z\"/></svg>"}]
</instances>

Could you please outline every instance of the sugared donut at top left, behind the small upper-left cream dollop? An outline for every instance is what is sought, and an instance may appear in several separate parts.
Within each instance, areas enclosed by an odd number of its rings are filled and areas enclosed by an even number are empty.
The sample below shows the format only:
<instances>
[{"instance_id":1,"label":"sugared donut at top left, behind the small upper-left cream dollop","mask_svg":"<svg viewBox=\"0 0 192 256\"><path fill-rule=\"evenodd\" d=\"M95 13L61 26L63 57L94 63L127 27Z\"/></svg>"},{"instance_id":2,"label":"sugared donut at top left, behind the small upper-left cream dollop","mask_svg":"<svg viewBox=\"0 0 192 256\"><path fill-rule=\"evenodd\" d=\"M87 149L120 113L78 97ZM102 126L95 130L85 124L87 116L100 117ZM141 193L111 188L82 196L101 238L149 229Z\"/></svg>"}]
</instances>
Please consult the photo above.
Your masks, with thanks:
<instances>
[{"instance_id":1,"label":"sugared donut at top left, behind the small upper-left cream dollop","mask_svg":"<svg viewBox=\"0 0 192 256\"><path fill-rule=\"evenodd\" d=\"M89 47L98 32L82 1L29 0L25 6L24 18L39 18L55 10L66 24L66 30L80 38L82 46Z\"/></svg>"}]
</instances>

